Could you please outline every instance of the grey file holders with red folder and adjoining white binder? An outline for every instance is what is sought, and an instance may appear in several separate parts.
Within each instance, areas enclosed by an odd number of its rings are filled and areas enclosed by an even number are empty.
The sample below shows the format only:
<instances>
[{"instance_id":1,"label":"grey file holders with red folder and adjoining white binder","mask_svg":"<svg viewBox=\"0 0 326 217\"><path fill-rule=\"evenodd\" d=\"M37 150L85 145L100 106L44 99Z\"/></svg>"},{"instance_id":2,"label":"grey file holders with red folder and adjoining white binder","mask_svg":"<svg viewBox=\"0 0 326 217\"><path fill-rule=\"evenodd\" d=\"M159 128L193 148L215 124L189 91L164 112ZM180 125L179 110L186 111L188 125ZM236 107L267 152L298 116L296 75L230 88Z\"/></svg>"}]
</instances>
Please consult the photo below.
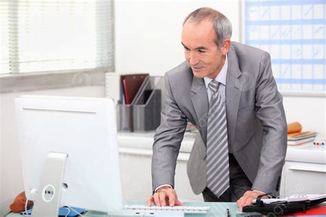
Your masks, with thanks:
<instances>
[{"instance_id":1,"label":"grey file holders with red folder and adjoining white binder","mask_svg":"<svg viewBox=\"0 0 326 217\"><path fill-rule=\"evenodd\" d=\"M117 102L118 130L144 132L160 125L164 100L162 76L107 73L105 78L106 96Z\"/></svg>"}]
</instances>

